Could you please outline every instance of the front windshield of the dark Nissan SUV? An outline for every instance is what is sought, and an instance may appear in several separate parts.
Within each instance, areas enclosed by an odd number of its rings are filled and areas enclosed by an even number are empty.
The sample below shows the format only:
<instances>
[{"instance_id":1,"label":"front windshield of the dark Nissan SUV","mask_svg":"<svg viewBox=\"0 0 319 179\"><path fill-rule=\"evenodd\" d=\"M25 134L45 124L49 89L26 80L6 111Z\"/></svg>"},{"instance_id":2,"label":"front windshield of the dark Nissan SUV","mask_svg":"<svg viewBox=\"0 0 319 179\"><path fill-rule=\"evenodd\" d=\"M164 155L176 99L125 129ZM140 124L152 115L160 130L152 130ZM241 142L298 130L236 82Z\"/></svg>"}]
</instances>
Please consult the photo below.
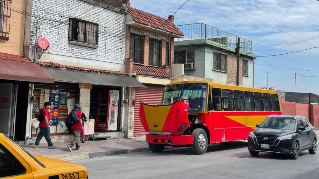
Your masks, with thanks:
<instances>
[{"instance_id":1,"label":"front windshield of the dark Nissan SUV","mask_svg":"<svg viewBox=\"0 0 319 179\"><path fill-rule=\"evenodd\" d=\"M260 128L270 128L270 129L295 129L295 118L267 118L260 125Z\"/></svg>"}]
</instances>

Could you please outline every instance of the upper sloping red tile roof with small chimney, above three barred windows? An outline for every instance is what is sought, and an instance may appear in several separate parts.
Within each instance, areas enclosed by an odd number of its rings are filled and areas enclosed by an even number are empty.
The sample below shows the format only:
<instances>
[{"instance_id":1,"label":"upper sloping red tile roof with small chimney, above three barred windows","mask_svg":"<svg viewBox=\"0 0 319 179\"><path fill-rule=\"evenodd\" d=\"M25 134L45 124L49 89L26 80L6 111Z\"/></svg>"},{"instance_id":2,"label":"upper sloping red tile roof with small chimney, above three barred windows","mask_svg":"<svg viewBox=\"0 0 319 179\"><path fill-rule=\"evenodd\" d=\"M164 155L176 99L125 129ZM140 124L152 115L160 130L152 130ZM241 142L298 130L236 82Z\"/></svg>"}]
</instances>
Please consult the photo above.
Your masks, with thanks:
<instances>
[{"instance_id":1,"label":"upper sloping red tile roof with small chimney, above three barred windows","mask_svg":"<svg viewBox=\"0 0 319 179\"><path fill-rule=\"evenodd\" d=\"M160 30L184 36L183 32L180 31L174 24L172 24L170 20L167 20L166 18L162 18L132 7L130 7L128 11L130 12L136 23L151 25L152 27L158 28Z\"/></svg>"}]
</instances>

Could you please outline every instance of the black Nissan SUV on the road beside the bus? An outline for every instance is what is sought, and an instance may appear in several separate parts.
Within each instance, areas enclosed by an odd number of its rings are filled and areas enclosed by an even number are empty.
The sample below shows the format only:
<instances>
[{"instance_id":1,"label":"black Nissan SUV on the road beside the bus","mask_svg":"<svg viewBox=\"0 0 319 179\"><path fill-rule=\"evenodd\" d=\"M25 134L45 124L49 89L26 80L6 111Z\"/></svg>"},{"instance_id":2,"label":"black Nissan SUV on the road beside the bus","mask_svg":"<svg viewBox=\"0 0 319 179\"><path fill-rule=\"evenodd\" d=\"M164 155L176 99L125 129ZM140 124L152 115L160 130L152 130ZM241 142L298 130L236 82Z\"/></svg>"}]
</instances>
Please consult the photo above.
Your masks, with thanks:
<instances>
[{"instance_id":1,"label":"black Nissan SUV on the road beside the bus","mask_svg":"<svg viewBox=\"0 0 319 179\"><path fill-rule=\"evenodd\" d=\"M301 151L309 150L310 154L317 151L315 129L303 116L271 115L256 127L248 137L251 155L271 152L297 159Z\"/></svg>"}]
</instances>

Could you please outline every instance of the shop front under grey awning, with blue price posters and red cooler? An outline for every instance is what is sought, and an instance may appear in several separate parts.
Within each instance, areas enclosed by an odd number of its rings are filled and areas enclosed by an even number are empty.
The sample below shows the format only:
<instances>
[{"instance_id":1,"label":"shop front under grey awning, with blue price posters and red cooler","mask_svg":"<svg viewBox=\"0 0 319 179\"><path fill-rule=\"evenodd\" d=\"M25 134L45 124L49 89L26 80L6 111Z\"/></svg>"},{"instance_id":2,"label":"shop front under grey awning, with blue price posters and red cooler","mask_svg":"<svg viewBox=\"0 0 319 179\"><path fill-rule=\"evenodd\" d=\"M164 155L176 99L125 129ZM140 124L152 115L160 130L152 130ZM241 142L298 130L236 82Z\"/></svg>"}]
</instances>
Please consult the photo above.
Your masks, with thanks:
<instances>
[{"instance_id":1,"label":"shop front under grey awning, with blue price posters and red cooler","mask_svg":"<svg viewBox=\"0 0 319 179\"><path fill-rule=\"evenodd\" d=\"M90 126L93 131L121 131L126 122L125 87L145 88L128 74L113 75L45 66L41 68L54 77L55 83L34 84L33 95L36 98L32 106L32 119L35 120L44 102L51 102L49 124L52 136L69 133L64 120L74 104L80 104L86 117L94 121ZM34 138L37 129L32 127L31 133Z\"/></svg>"}]
</instances>

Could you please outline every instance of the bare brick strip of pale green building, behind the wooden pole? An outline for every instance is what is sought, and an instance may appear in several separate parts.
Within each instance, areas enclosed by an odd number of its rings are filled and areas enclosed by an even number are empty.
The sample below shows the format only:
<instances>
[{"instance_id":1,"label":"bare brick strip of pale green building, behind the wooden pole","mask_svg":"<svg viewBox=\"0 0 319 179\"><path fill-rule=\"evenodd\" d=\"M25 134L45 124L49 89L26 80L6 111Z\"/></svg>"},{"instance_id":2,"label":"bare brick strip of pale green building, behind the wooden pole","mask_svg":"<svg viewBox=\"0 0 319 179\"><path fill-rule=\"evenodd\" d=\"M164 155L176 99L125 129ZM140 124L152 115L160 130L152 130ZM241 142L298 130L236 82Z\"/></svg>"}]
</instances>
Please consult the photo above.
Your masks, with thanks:
<instances>
[{"instance_id":1,"label":"bare brick strip of pale green building, behind the wooden pole","mask_svg":"<svg viewBox=\"0 0 319 179\"><path fill-rule=\"evenodd\" d=\"M234 53L227 53L227 83L236 84L237 57ZM242 57L239 61L239 84L242 84Z\"/></svg>"}]
</instances>

